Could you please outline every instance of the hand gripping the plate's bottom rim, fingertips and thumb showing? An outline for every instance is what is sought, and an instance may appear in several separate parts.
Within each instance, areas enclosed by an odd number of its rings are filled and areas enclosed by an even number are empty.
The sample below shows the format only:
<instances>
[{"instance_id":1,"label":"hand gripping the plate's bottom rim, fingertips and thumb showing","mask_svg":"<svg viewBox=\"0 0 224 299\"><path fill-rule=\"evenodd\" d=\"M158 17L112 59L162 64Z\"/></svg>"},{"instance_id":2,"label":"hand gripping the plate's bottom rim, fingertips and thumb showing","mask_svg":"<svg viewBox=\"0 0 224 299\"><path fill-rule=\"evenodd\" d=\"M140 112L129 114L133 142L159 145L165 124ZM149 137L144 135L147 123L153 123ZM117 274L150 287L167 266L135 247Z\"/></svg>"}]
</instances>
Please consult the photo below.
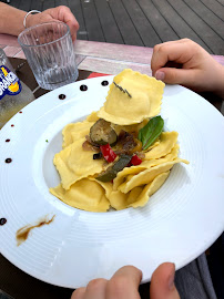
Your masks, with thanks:
<instances>
[{"instance_id":1,"label":"hand gripping the plate's bottom rim, fingertips and thumb showing","mask_svg":"<svg viewBox=\"0 0 224 299\"><path fill-rule=\"evenodd\" d=\"M164 262L152 275L151 299L180 299L174 286L175 266ZM141 299L139 285L142 272L133 266L119 269L110 279L94 279L85 288L73 291L71 299Z\"/></svg>"}]
</instances>

